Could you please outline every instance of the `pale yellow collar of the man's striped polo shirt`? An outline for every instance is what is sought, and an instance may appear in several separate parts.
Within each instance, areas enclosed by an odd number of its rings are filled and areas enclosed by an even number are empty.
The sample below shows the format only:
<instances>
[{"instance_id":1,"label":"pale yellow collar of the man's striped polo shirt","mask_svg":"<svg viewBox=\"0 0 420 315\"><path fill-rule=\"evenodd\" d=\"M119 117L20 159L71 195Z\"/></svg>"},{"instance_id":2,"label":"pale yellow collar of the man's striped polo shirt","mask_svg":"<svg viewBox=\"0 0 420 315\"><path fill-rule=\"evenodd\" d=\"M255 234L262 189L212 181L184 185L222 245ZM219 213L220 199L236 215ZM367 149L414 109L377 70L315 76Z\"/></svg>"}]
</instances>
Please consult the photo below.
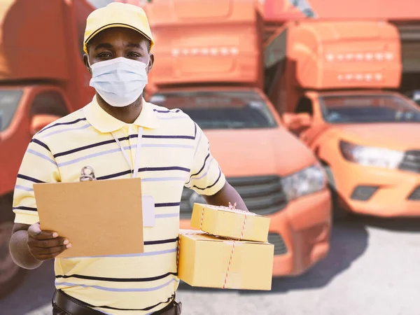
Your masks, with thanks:
<instances>
[{"instance_id":1,"label":"pale yellow collar of the man's striped polo shirt","mask_svg":"<svg viewBox=\"0 0 420 315\"><path fill-rule=\"evenodd\" d=\"M116 130L120 130L122 127L130 125L109 115L109 113L106 113L106 111L99 106L96 95L93 97L92 102L85 106L83 111L90 125L92 125L96 130L99 130L99 132L115 132ZM143 99L143 108L141 109L141 113L132 125L154 129L158 127L158 124L159 119L153 111L153 105Z\"/></svg>"}]
</instances>

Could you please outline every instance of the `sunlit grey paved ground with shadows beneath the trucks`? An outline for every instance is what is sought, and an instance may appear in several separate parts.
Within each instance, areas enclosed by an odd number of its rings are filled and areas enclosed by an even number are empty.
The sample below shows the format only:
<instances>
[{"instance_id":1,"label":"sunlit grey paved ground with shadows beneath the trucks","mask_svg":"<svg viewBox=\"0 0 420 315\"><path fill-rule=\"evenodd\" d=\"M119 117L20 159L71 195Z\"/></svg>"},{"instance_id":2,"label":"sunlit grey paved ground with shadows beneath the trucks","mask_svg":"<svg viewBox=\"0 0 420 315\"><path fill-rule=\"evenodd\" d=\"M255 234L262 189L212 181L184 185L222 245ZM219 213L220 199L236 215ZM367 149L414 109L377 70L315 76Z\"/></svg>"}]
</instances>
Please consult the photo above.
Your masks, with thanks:
<instances>
[{"instance_id":1,"label":"sunlit grey paved ground with shadows beneath the trucks","mask_svg":"<svg viewBox=\"0 0 420 315\"><path fill-rule=\"evenodd\" d=\"M269 293L181 286L185 315L419 315L420 220L336 225L330 255ZM1 315L50 315L52 264L30 272Z\"/></svg>"}]
</instances>

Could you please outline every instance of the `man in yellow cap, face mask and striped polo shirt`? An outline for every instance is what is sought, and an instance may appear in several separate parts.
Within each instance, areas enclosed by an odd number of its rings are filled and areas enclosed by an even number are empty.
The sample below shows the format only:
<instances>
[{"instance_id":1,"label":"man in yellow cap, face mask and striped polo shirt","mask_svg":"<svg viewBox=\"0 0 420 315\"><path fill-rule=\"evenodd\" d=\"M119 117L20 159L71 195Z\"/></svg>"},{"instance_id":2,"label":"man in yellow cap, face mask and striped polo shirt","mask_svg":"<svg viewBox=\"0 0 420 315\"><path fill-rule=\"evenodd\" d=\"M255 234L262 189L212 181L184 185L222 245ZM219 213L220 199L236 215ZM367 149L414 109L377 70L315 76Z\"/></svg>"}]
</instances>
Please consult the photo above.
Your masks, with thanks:
<instances>
[{"instance_id":1,"label":"man in yellow cap, face mask and striped polo shirt","mask_svg":"<svg viewBox=\"0 0 420 315\"><path fill-rule=\"evenodd\" d=\"M87 18L85 64L96 96L38 132L22 161L10 251L27 269L71 246L71 239L40 230L33 183L78 181L80 169L89 165L98 180L141 177L142 192L155 202L155 226L144 228L145 253L55 259L53 314L181 314L175 291L183 186L209 204L237 202L246 209L200 127L181 111L141 97L154 62L153 44L141 8L111 3L95 10Z\"/></svg>"}]
</instances>

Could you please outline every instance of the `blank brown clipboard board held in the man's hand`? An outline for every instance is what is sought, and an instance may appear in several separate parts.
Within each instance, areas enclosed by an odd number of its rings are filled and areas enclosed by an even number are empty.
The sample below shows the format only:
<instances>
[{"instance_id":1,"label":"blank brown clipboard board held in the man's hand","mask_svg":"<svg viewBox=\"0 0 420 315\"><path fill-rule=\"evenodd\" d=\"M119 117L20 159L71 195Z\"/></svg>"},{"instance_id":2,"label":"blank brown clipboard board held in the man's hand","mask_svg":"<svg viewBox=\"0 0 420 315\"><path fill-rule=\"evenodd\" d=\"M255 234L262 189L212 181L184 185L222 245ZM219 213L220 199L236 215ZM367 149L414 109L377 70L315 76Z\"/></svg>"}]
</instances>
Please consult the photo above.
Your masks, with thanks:
<instances>
[{"instance_id":1,"label":"blank brown clipboard board held in the man's hand","mask_svg":"<svg viewBox=\"0 0 420 315\"><path fill-rule=\"evenodd\" d=\"M41 230L66 237L58 258L144 252L141 179L34 184Z\"/></svg>"}]
</instances>

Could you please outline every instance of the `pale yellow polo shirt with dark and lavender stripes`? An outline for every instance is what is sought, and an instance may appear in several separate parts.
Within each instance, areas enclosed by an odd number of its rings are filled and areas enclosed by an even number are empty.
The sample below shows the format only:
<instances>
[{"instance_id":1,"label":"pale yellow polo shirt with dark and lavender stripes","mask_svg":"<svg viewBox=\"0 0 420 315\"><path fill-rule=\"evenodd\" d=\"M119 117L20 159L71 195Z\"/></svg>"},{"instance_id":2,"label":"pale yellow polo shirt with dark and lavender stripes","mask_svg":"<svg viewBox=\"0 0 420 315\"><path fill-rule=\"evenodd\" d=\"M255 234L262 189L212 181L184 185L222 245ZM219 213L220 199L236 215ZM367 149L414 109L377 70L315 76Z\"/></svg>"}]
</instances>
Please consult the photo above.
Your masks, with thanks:
<instances>
[{"instance_id":1,"label":"pale yellow polo shirt with dark and lavender stripes","mask_svg":"<svg viewBox=\"0 0 420 315\"><path fill-rule=\"evenodd\" d=\"M56 287L107 314L153 313L168 304L178 287L183 187L214 195L225 184L200 127L179 109L147 102L139 118L126 124L106 113L94 98L34 136L15 186L15 223L34 224L38 222L34 183L78 181L85 165L94 168L98 180L130 178L132 171L111 132L134 165L139 126L144 127L139 157L142 193L155 200L155 226L144 228L145 252L55 260Z\"/></svg>"}]
</instances>

